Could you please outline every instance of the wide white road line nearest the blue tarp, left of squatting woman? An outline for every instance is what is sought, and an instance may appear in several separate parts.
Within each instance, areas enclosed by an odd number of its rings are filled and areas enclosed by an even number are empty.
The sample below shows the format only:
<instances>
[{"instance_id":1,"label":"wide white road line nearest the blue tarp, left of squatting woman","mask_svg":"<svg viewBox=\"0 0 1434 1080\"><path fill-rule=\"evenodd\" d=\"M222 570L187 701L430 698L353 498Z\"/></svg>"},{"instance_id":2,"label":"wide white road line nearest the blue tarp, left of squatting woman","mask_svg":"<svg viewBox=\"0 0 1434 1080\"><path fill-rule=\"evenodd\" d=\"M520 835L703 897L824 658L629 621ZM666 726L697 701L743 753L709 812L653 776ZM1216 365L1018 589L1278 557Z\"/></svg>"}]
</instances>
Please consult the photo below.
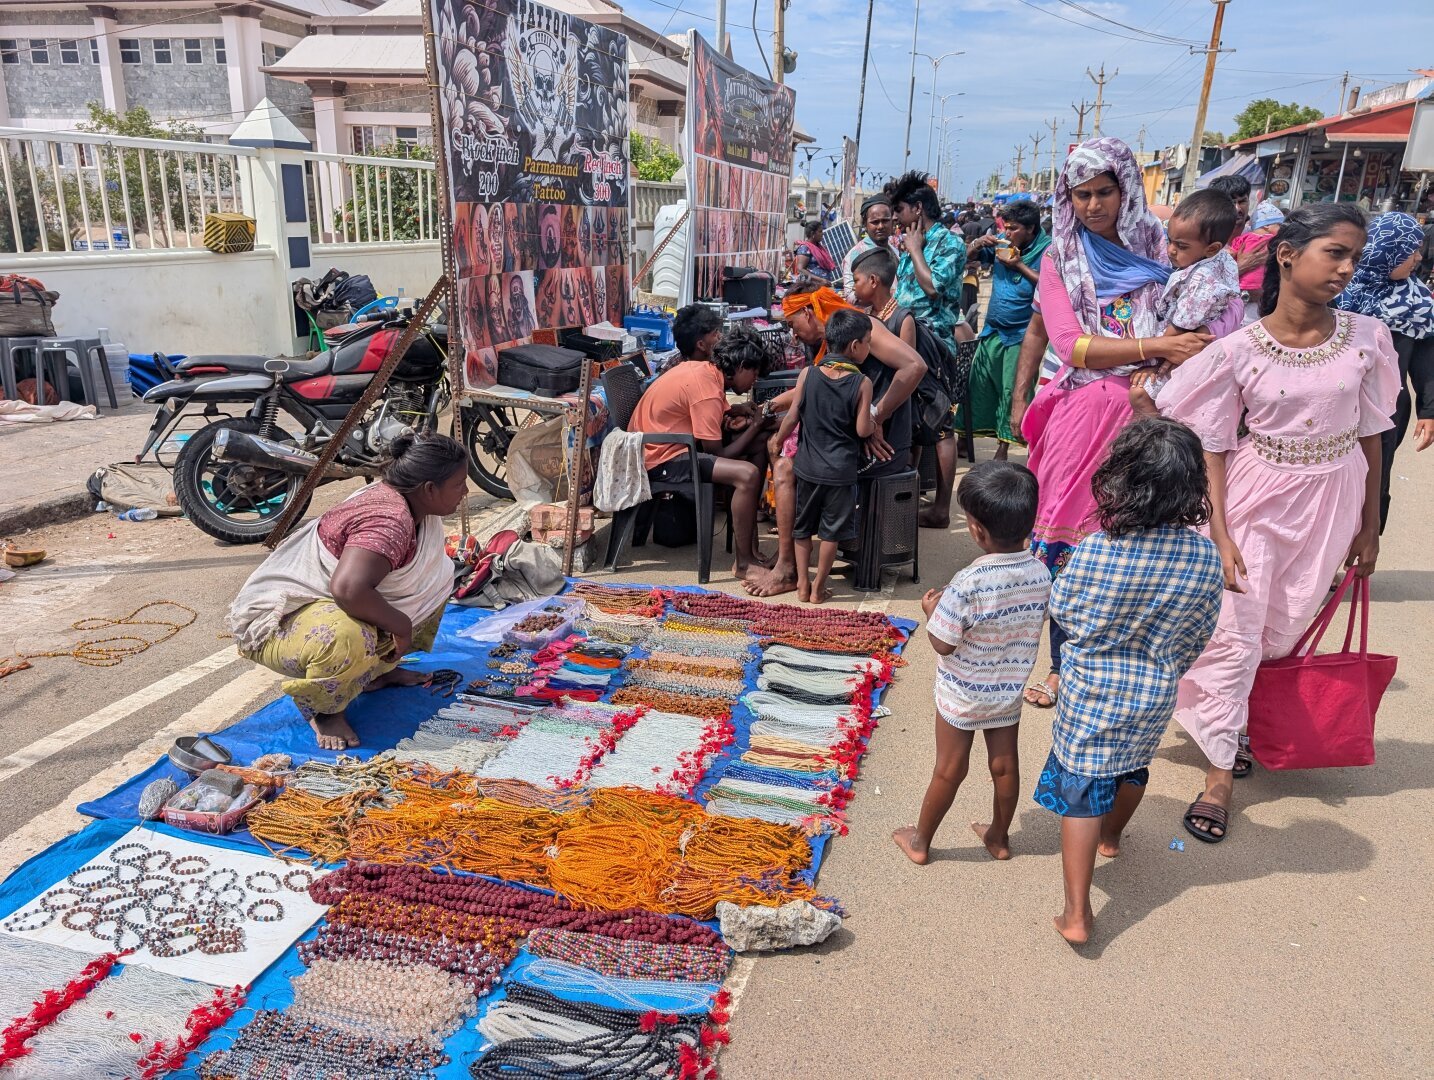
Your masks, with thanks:
<instances>
[{"instance_id":1,"label":"wide white road line nearest the blue tarp, left of squatting woman","mask_svg":"<svg viewBox=\"0 0 1434 1080\"><path fill-rule=\"evenodd\" d=\"M228 726L241 716L241 710L245 706L267 696L278 681L280 677L268 668L252 667L234 681L219 687L218 691L168 727L155 731L139 747L125 754L123 759L96 773L70 792L60 803L32 818L0 840L0 852L4 852L0 855L0 873L9 873L56 840L85 828L90 819L79 813L75 807L90 799L108 795L135 773L148 769L156 757L169 749L175 736L214 731L218 730L215 724Z\"/></svg>"}]
</instances>

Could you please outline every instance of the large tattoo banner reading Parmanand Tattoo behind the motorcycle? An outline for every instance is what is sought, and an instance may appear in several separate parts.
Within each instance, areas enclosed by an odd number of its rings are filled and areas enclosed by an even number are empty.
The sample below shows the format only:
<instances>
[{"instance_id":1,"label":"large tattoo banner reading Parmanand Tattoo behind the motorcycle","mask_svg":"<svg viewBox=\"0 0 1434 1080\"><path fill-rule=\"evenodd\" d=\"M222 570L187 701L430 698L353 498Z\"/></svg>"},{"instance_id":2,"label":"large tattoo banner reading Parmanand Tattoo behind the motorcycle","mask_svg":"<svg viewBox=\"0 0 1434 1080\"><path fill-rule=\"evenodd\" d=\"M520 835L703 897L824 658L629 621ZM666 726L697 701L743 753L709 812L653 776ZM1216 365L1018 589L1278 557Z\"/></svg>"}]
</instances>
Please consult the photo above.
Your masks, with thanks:
<instances>
[{"instance_id":1,"label":"large tattoo banner reading Parmanand Tattoo behind the motorcycle","mask_svg":"<svg viewBox=\"0 0 1434 1080\"><path fill-rule=\"evenodd\" d=\"M528 0L430 3L463 384L482 390L535 330L622 326L627 37Z\"/></svg>"}]
</instances>

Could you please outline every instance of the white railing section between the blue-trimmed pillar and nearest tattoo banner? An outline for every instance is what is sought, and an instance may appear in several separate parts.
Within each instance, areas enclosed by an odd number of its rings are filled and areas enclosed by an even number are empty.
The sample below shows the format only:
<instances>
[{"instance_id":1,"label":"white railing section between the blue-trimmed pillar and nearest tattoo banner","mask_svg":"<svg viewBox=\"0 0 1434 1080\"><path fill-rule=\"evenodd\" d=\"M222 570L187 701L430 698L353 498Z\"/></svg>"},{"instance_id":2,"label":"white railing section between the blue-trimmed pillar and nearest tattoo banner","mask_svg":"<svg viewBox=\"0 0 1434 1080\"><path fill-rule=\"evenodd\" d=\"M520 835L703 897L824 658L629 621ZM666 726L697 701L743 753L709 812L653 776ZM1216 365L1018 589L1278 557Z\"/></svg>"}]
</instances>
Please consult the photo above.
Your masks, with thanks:
<instances>
[{"instance_id":1,"label":"white railing section between the blue-trimmed pillar and nearest tattoo banner","mask_svg":"<svg viewBox=\"0 0 1434 1080\"><path fill-rule=\"evenodd\" d=\"M315 244L412 244L439 238L432 161L304 153L310 240Z\"/></svg>"}]
</instances>

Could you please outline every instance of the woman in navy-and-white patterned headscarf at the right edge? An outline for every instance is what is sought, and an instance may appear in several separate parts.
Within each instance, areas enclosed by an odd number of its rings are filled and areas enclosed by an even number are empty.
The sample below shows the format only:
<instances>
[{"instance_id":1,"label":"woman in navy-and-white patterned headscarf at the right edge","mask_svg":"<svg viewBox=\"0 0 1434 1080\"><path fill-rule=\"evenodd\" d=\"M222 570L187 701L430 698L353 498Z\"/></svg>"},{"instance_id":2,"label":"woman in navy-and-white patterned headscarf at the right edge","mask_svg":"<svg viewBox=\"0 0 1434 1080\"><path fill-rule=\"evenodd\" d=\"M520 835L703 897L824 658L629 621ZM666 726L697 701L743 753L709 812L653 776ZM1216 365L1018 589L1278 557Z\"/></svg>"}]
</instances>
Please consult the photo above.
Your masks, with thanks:
<instances>
[{"instance_id":1,"label":"woman in navy-and-white patterned headscarf at the right edge","mask_svg":"<svg viewBox=\"0 0 1434 1080\"><path fill-rule=\"evenodd\" d=\"M1414 277L1424 252L1424 229L1408 214L1381 214L1369 222L1359 265L1335 307L1374 316L1394 337L1400 356L1400 399L1394 406L1394 427L1384 432L1384 475L1380 479L1380 532L1390 518L1390 470L1394 452L1410 426L1410 380L1418 399L1414 449L1434 443L1434 297Z\"/></svg>"}]
</instances>

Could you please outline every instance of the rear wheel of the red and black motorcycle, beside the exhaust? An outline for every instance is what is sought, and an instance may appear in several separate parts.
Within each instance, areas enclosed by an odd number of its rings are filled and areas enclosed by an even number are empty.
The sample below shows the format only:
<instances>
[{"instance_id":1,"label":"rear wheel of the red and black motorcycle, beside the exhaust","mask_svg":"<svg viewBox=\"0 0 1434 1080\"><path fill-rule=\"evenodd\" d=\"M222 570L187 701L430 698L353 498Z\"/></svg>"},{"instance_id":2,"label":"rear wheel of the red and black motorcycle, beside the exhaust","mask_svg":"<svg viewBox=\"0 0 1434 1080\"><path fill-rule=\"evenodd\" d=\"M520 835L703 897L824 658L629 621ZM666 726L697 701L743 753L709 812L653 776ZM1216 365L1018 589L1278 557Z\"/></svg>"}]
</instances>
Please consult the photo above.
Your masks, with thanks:
<instances>
[{"instance_id":1,"label":"rear wheel of the red and black motorcycle, beside the exhaust","mask_svg":"<svg viewBox=\"0 0 1434 1080\"><path fill-rule=\"evenodd\" d=\"M298 495L303 476L214 458L214 440L225 427L258 435L258 420L244 416L201 427L175 460L175 496L185 516L225 544L258 544ZM308 509L304 499L297 525Z\"/></svg>"}]
</instances>

